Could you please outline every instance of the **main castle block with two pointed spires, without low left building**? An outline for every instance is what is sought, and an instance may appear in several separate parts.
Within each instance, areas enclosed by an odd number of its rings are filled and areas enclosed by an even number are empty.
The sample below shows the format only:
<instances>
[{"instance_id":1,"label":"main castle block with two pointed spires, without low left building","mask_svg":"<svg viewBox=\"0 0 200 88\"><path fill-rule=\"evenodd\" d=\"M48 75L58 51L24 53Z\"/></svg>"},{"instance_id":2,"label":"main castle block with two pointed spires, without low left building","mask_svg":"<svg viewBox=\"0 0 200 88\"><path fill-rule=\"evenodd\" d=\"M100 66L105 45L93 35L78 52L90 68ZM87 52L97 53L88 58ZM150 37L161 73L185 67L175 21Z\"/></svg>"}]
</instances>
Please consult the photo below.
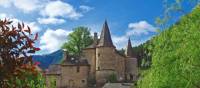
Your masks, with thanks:
<instances>
[{"instance_id":1,"label":"main castle block with two pointed spires, without low left building","mask_svg":"<svg viewBox=\"0 0 200 88\"><path fill-rule=\"evenodd\" d=\"M133 58L130 39L126 56L120 55L113 45L106 21L103 24L100 39L97 33L94 33L94 43L83 50L83 55L91 65L90 75L99 84L107 82L107 78L112 74L117 76L118 81L136 80L137 59Z\"/></svg>"}]
</instances>

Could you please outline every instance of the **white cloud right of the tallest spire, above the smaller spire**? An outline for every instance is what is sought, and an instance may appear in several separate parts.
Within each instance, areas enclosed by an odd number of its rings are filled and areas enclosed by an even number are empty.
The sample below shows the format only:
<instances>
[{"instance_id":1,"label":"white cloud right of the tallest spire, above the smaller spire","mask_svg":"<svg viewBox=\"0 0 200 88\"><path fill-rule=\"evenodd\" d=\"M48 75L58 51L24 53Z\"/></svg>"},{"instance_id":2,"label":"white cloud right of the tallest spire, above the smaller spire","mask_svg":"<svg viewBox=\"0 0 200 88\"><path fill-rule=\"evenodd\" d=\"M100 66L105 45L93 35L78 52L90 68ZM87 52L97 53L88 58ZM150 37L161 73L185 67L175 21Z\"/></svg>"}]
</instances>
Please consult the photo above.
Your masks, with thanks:
<instances>
[{"instance_id":1,"label":"white cloud right of the tallest spire, above the smaller spire","mask_svg":"<svg viewBox=\"0 0 200 88\"><path fill-rule=\"evenodd\" d=\"M156 27L149 24L146 21L139 21L137 23L129 23L128 28L131 31L127 32L127 35L141 35L141 34L149 34L149 32L156 32Z\"/></svg>"}]
</instances>

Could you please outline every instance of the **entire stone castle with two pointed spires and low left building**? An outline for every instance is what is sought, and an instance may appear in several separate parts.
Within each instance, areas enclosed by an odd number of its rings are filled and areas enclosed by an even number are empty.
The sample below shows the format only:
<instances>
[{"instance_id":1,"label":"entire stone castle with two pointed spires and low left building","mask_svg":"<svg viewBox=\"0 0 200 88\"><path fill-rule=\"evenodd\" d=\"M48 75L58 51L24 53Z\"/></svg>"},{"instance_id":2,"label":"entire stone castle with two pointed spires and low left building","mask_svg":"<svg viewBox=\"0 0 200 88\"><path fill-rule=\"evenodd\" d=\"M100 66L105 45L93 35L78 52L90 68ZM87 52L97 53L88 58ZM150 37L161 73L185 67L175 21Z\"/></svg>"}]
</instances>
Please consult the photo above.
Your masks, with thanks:
<instances>
[{"instance_id":1,"label":"entire stone castle with two pointed spires and low left building","mask_svg":"<svg viewBox=\"0 0 200 88\"><path fill-rule=\"evenodd\" d=\"M109 82L109 78L115 78L117 82L137 80L137 59L130 39L125 55L119 54L106 21L100 39L94 33L93 44L83 49L81 55L81 58L76 58L64 52L63 63L51 65L45 73L47 87L88 88L92 84L100 87Z\"/></svg>"}]
</instances>

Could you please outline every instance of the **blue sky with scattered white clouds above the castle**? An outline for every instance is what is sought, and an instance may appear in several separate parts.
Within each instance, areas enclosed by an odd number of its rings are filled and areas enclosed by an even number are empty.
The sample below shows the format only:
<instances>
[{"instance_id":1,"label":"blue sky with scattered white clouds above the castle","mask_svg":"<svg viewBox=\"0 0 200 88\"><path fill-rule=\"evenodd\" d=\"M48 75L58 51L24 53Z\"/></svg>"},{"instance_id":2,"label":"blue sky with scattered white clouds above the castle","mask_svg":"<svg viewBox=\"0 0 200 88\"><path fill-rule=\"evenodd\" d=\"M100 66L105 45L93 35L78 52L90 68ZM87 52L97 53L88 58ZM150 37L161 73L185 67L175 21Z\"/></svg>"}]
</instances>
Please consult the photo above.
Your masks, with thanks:
<instances>
[{"instance_id":1,"label":"blue sky with scattered white clouds above the castle","mask_svg":"<svg viewBox=\"0 0 200 88\"><path fill-rule=\"evenodd\" d=\"M128 37L133 46L157 34L155 18L163 13L162 0L0 0L0 18L25 22L34 33L40 54L58 50L77 26L100 34L105 19L118 49ZM190 11L190 9L187 9Z\"/></svg>"}]
</instances>

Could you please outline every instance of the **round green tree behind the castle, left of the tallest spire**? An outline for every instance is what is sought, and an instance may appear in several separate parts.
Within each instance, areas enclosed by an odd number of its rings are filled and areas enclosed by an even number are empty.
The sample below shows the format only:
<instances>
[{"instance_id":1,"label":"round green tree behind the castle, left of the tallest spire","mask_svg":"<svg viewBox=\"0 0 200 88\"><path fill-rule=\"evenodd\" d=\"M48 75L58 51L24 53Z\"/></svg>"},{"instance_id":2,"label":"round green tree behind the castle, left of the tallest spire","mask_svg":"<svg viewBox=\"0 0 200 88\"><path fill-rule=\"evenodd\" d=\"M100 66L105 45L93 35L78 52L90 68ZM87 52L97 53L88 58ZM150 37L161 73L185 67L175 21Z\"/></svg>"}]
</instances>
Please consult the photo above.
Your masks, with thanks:
<instances>
[{"instance_id":1,"label":"round green tree behind the castle, left of the tallest spire","mask_svg":"<svg viewBox=\"0 0 200 88\"><path fill-rule=\"evenodd\" d=\"M81 50L91 45L93 40L90 30L87 27L77 27L69 34L68 41L63 45L63 49L76 56L80 56Z\"/></svg>"}]
</instances>

